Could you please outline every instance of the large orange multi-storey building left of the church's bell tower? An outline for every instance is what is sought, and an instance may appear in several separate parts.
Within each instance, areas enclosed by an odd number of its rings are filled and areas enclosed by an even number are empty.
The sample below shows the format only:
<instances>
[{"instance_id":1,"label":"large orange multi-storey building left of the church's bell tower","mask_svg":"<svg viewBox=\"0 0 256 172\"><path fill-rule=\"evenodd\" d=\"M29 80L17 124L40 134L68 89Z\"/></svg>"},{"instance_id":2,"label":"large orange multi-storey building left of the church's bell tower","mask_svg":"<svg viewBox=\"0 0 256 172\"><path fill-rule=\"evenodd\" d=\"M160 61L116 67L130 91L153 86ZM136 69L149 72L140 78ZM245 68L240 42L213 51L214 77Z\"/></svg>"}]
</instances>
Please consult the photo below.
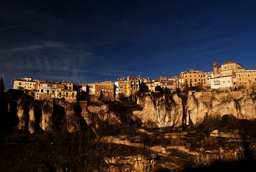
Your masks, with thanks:
<instances>
[{"instance_id":1,"label":"large orange multi-storey building left of the church's bell tower","mask_svg":"<svg viewBox=\"0 0 256 172\"><path fill-rule=\"evenodd\" d=\"M195 71L194 69L189 70L189 72L181 72L179 78L183 78L184 82L187 83L188 87L207 85L207 74L208 72Z\"/></svg>"}]
</instances>

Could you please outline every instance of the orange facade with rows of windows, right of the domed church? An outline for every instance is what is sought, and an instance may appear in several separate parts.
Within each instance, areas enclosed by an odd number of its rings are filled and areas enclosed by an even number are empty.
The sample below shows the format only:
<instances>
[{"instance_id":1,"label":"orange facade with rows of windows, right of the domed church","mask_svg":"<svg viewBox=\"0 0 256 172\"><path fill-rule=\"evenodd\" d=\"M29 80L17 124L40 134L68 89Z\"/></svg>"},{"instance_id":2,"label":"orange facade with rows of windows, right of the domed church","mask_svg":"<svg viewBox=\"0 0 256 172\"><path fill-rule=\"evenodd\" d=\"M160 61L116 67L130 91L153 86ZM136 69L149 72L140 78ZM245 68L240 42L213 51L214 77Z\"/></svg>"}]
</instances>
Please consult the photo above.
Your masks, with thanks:
<instances>
[{"instance_id":1,"label":"orange facade with rows of windows, right of the domed church","mask_svg":"<svg viewBox=\"0 0 256 172\"><path fill-rule=\"evenodd\" d=\"M237 88L256 88L256 70L234 70L234 83Z\"/></svg>"}]
</instances>

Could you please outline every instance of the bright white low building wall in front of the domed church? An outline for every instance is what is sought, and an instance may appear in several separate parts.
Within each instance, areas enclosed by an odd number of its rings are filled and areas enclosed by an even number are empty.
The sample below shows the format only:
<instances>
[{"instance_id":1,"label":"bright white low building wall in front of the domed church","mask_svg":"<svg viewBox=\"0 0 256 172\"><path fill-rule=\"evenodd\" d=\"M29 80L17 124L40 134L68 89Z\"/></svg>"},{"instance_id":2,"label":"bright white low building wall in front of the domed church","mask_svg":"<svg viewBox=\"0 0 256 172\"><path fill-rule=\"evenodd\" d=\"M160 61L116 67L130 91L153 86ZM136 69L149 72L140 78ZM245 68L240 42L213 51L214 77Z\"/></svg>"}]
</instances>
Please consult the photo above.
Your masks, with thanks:
<instances>
[{"instance_id":1,"label":"bright white low building wall in front of the domed church","mask_svg":"<svg viewBox=\"0 0 256 172\"><path fill-rule=\"evenodd\" d=\"M211 89L233 87L233 77L232 76L222 76L210 79Z\"/></svg>"}]
</instances>

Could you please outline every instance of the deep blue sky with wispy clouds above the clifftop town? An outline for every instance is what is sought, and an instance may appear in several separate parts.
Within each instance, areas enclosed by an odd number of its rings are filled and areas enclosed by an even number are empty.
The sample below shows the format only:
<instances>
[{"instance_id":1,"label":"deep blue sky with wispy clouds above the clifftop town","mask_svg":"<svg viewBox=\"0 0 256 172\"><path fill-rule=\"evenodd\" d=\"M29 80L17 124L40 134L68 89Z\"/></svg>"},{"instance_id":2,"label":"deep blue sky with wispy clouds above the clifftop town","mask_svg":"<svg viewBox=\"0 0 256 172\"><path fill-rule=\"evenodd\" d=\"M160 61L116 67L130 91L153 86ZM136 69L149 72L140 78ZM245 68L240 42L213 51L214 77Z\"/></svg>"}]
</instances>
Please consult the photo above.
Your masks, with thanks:
<instances>
[{"instance_id":1,"label":"deep blue sky with wispy clouds above the clifftop town","mask_svg":"<svg viewBox=\"0 0 256 172\"><path fill-rule=\"evenodd\" d=\"M74 83L256 69L256 1L1 1L0 77Z\"/></svg>"}]
</instances>

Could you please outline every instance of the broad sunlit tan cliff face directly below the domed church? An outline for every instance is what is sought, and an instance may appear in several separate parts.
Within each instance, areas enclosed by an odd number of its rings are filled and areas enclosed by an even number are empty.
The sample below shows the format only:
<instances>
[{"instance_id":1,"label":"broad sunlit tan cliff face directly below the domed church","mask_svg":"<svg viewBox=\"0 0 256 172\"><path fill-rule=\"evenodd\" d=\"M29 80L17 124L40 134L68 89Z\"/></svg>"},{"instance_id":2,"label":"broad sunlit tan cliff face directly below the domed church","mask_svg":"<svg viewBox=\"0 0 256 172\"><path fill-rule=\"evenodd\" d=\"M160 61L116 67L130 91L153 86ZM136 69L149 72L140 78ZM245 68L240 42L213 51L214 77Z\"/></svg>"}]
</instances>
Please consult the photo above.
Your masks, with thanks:
<instances>
[{"instance_id":1,"label":"broad sunlit tan cliff face directly below the domed church","mask_svg":"<svg viewBox=\"0 0 256 172\"><path fill-rule=\"evenodd\" d=\"M256 103L250 96L251 90L228 92L189 92L186 103L186 123L190 120L196 124L204 115L222 117L234 115L239 119L256 118Z\"/></svg>"}]
</instances>

